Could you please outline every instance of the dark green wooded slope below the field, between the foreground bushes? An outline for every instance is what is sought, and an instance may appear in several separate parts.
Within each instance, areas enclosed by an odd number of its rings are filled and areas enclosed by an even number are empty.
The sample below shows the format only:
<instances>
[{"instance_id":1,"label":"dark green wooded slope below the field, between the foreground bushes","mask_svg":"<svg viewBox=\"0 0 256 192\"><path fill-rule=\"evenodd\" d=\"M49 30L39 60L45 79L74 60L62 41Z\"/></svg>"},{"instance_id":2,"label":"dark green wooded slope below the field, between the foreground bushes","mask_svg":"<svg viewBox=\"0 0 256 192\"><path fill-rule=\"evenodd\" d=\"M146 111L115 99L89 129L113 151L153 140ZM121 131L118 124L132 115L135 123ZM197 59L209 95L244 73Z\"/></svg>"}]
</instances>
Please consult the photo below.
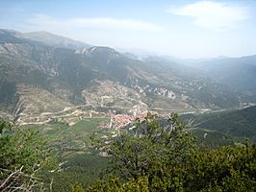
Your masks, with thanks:
<instances>
[{"instance_id":1,"label":"dark green wooded slope below the field, between the foreground bushes","mask_svg":"<svg viewBox=\"0 0 256 192\"><path fill-rule=\"evenodd\" d=\"M105 157L94 154L78 154L64 160L66 161L62 166L63 171L45 173L48 183L51 178L54 179L52 191L65 192L70 189L70 186L72 190L77 190L79 186L82 188L90 186L101 176L108 161Z\"/></svg>"}]
</instances>

